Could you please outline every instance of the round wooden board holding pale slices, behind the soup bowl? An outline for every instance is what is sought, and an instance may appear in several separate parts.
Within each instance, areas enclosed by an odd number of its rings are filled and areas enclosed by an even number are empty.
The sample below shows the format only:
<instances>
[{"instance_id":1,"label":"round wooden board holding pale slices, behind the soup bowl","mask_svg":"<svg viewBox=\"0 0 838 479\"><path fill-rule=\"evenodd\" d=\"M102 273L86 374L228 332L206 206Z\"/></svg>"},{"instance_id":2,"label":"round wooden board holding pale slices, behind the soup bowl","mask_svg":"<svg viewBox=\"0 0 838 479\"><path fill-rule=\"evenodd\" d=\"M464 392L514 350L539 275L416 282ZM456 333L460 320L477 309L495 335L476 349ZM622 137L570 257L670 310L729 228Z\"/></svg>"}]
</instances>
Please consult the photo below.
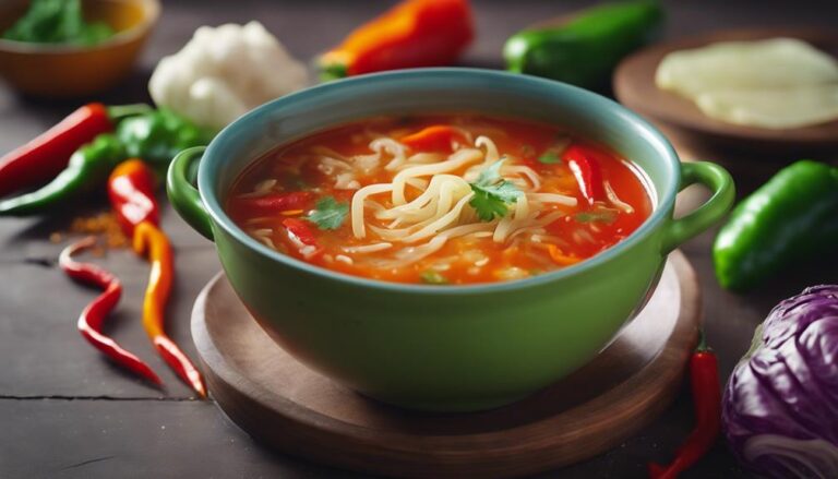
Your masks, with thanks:
<instances>
[{"instance_id":1,"label":"round wooden board holding pale slices, behind the soup bowl","mask_svg":"<svg viewBox=\"0 0 838 479\"><path fill-rule=\"evenodd\" d=\"M792 130L742 127L714 120L691 100L655 85L658 64L675 50L698 48L716 41L756 40L791 37L810 43L838 57L838 35L812 28L744 28L721 31L702 36L657 44L625 60L614 73L614 95L626 107L641 115L673 127L691 142L718 142L742 151L783 155L804 154L838 147L838 121Z\"/></svg>"}]
</instances>

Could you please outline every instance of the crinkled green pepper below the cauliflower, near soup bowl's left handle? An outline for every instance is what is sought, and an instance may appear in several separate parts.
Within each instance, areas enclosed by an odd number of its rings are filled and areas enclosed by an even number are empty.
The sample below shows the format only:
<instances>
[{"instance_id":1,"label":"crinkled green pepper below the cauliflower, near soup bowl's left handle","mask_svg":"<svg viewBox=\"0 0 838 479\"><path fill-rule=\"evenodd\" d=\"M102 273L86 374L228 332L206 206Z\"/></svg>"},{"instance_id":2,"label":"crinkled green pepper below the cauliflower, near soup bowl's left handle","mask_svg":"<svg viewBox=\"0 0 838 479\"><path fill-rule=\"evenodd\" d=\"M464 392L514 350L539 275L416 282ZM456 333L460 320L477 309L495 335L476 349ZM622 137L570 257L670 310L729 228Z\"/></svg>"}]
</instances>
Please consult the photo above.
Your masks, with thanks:
<instances>
[{"instance_id":1,"label":"crinkled green pepper below the cauliflower, near soup bowl's left handle","mask_svg":"<svg viewBox=\"0 0 838 479\"><path fill-rule=\"evenodd\" d=\"M117 127L117 137L125 146L128 157L142 158L157 170L168 168L181 151L206 145L213 135L214 132L163 109L125 118Z\"/></svg>"}]
</instances>

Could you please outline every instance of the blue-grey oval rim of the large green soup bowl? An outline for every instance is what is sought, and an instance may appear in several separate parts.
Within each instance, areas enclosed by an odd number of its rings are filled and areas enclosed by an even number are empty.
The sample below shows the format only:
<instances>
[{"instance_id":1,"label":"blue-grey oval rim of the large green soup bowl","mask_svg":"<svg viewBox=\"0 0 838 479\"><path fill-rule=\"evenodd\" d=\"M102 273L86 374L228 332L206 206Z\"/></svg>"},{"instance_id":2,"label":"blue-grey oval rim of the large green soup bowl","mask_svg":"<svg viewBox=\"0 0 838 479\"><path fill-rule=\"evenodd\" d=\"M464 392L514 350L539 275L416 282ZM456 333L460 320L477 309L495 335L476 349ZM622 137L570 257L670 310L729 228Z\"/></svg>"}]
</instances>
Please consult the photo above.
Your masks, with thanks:
<instances>
[{"instance_id":1,"label":"blue-grey oval rim of the large green soup bowl","mask_svg":"<svg viewBox=\"0 0 838 479\"><path fill-rule=\"evenodd\" d=\"M315 266L304 261L298 260L290 255L283 254L275 251L267 246L251 238L243 229L236 225L232 219L226 214L224 208L215 195L215 182L211 175L208 158L214 156L216 149L219 148L219 144L230 139L235 139L239 135L239 132L251 128L250 123L253 121L260 121L260 117L267 111L283 108L287 104L308 101L313 97L333 93L334 91L340 91L344 88L351 88L351 86L362 83L379 82L379 83L398 83L399 80L405 77L422 77L422 76L489 76L494 80L504 82L518 82L523 85L539 85L542 87L553 88L558 94L564 95L584 95L591 101L598 103L599 106L607 109L608 112L622 121L633 124L642 137L655 144L656 149L661 153L661 158L665 160L667 173L672 181L666 187L666 191L656 191L659 203L655 206L648 218L637 228L634 232L628 235L625 239L616 244L608 248L607 250L582 261L572 266L567 266L561 270L554 270L544 274L532 276L524 279L504 280L495 283L479 283L469 285L446 285L444 287L434 285L414 285L406 283L386 282L381 279L372 279L360 276L354 276L345 273L333 272L325 267ZM215 161L219 166L220 170L224 163ZM217 176L217 175L216 175ZM620 255L622 252L631 249L635 244L644 241L651 236L658 228L658 226L665 221L671 214L675 194L679 188L680 177L680 159L675 153L674 147L666 139L666 136L653 127L649 122L641 118L637 113L628 110L624 106L618 104L614 100L606 98L599 94L589 92L587 89L573 86L566 83L556 82L552 80L541 79L531 75L522 75L517 73L510 73L500 70L488 69L474 69L474 68L421 68L421 69L405 69L392 72L373 73L367 75L359 75L349 79L338 80L325 84L320 84L304 88L302 91L283 96L280 98L268 101L260 107L256 107L242 115L236 121L228 124L215 139L210 143L204 156L199 165L197 170L197 190L201 196L207 214L216 226L224 229L224 231L239 241L241 244L248 247L250 250L255 251L260 255L267 260L277 261L286 266L290 266L301 273L314 275L320 279L330 282L336 282L343 286L355 286L371 289L380 289L391 292L407 292L419 295L440 295L440 296L457 296L457 295L480 295L486 292L506 292L526 289L530 287L542 286L549 283L553 283L567 277L577 276L587 271L594 270L611 259ZM661 258L665 258L666 253L661 253Z\"/></svg>"}]
</instances>

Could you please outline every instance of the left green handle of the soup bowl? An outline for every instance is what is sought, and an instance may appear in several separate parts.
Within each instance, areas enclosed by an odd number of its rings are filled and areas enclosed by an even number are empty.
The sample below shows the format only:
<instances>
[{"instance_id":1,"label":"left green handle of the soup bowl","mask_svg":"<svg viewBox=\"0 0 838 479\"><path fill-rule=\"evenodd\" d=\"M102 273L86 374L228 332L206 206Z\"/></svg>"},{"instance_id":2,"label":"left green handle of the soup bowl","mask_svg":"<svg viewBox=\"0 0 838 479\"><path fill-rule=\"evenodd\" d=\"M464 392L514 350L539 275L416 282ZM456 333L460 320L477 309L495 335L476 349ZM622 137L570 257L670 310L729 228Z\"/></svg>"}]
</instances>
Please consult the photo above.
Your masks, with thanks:
<instances>
[{"instance_id":1,"label":"left green handle of the soup bowl","mask_svg":"<svg viewBox=\"0 0 838 479\"><path fill-rule=\"evenodd\" d=\"M181 218L195 231L210 241L213 240L213 226L210 214L201 201L201 193L189 181L188 172L195 159L201 159L206 146L195 146L184 149L175 156L166 176L166 193Z\"/></svg>"}]
</instances>

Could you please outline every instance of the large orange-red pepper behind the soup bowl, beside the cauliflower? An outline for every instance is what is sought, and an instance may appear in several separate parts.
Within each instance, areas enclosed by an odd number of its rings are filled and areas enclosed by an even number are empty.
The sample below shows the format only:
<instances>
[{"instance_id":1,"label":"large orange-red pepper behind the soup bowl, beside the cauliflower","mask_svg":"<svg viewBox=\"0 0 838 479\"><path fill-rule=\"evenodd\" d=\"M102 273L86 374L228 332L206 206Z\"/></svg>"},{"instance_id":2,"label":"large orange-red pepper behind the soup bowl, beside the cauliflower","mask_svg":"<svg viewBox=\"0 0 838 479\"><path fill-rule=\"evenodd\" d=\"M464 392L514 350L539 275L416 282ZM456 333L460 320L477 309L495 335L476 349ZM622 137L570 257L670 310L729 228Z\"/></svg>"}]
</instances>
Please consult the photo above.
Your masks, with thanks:
<instances>
[{"instance_id":1,"label":"large orange-red pepper behind the soup bowl, beside the cauliflower","mask_svg":"<svg viewBox=\"0 0 838 479\"><path fill-rule=\"evenodd\" d=\"M320 58L324 80L453 63L471 43L468 0L406 0Z\"/></svg>"}]
</instances>

